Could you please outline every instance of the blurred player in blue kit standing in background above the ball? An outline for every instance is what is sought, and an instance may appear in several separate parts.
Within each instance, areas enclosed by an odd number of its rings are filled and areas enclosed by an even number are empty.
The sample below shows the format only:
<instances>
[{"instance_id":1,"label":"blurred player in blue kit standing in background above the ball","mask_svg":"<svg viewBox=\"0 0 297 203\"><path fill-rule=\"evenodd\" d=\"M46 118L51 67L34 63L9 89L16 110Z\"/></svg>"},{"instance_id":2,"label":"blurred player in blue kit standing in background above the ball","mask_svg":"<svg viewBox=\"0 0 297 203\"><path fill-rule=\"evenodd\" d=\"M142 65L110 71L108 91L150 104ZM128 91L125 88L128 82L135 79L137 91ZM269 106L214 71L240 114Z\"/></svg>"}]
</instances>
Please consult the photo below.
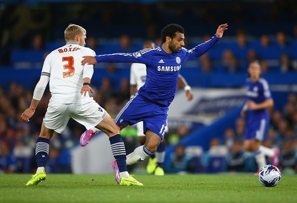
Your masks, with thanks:
<instances>
[{"instance_id":1,"label":"blurred player in blue kit standing in background above the ball","mask_svg":"<svg viewBox=\"0 0 297 203\"><path fill-rule=\"evenodd\" d=\"M247 102L241 111L241 116L246 116L244 149L254 153L258 169L266 165L265 156L277 166L279 150L261 146L261 142L265 140L270 120L267 109L273 107L273 99L267 81L261 78L260 64L256 61L250 63L248 67L246 96Z\"/></svg>"}]
</instances>

